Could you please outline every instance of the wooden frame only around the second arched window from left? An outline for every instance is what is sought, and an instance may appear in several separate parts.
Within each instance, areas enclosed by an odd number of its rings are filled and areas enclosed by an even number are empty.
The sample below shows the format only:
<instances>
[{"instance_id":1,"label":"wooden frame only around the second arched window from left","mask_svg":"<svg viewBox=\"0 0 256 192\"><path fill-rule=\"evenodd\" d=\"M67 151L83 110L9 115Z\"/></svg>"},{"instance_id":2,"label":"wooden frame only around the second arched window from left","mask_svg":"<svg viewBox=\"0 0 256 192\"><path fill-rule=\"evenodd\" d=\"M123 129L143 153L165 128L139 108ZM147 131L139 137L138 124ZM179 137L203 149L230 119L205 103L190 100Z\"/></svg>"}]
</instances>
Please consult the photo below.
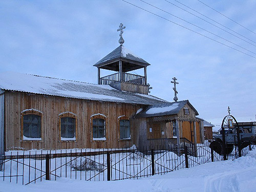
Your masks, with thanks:
<instances>
[{"instance_id":1,"label":"wooden frame only around the second arched window from left","mask_svg":"<svg viewBox=\"0 0 256 192\"><path fill-rule=\"evenodd\" d=\"M76 139L67 139L67 140L61 140L61 118L63 117L70 117L75 119L75 138ZM59 142L77 142L77 115L71 112L64 112L59 114Z\"/></svg>"}]
</instances>

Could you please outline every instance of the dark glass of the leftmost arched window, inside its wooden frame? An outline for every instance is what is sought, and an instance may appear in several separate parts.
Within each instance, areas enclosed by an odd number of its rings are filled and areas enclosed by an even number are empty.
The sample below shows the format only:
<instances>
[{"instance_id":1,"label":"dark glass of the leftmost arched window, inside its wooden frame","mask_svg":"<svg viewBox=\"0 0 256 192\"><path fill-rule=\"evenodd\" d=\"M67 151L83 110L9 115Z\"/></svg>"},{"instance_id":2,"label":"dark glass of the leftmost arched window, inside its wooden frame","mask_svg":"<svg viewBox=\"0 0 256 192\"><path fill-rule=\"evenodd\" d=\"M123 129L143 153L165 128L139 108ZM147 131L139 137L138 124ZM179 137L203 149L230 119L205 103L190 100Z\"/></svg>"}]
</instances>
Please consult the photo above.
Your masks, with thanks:
<instances>
[{"instance_id":1,"label":"dark glass of the leftmost arched window, inside its wooden frame","mask_svg":"<svg viewBox=\"0 0 256 192\"><path fill-rule=\"evenodd\" d=\"M41 116L23 115L23 140L41 140Z\"/></svg>"}]
</instances>

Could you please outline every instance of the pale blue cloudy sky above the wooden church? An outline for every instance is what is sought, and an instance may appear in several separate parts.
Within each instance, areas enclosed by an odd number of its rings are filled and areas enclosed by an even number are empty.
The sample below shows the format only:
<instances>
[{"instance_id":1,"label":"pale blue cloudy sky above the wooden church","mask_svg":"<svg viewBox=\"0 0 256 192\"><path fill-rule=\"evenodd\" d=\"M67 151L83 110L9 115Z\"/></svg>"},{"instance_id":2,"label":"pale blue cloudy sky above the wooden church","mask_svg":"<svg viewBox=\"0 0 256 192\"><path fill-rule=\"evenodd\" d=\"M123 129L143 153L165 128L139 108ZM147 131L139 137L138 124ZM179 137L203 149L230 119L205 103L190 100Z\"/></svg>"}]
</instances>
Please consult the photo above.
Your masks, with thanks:
<instances>
[{"instance_id":1,"label":"pale blue cloudy sky above the wooden church","mask_svg":"<svg viewBox=\"0 0 256 192\"><path fill-rule=\"evenodd\" d=\"M123 46L151 64L151 95L173 101L170 81L176 77L179 100L188 99L200 118L221 125L229 106L238 121L255 121L256 1L202 0L245 28L197 0L144 0L159 9L125 1L156 15L121 0L1 0L0 73L97 83L93 65L119 46L117 29L123 23ZM111 73L101 70L102 76Z\"/></svg>"}]
</instances>

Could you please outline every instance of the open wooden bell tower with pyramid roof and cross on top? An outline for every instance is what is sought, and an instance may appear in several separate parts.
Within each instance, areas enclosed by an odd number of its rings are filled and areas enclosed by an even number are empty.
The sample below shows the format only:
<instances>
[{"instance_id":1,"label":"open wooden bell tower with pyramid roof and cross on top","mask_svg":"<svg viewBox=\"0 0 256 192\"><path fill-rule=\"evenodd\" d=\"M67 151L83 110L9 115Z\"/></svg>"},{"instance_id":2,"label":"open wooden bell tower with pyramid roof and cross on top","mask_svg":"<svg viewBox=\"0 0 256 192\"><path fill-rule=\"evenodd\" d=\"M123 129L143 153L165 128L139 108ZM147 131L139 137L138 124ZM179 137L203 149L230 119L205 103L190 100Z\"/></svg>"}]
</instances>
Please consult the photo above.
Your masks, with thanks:
<instances>
[{"instance_id":1,"label":"open wooden bell tower with pyramid roof and cross on top","mask_svg":"<svg viewBox=\"0 0 256 192\"><path fill-rule=\"evenodd\" d=\"M150 85L147 84L146 67L150 66L150 63L123 46L123 29L125 29L125 26L120 24L117 30L120 31L118 41L120 46L94 65L98 68L98 84L109 84L120 91L148 94ZM142 68L144 68L144 76L127 73ZM115 71L116 73L101 77L101 69Z\"/></svg>"}]
</instances>

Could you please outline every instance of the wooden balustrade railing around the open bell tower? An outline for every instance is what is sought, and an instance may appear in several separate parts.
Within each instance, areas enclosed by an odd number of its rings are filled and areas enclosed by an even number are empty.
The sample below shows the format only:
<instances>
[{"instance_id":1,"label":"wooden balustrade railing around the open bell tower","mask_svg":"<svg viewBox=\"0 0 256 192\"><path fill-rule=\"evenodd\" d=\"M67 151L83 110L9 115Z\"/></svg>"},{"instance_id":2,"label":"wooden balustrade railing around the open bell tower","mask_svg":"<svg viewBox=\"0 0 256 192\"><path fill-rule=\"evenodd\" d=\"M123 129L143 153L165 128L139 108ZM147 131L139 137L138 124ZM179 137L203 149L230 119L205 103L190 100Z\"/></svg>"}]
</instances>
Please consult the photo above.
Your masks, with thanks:
<instances>
[{"instance_id":1,"label":"wooden balustrade railing around the open bell tower","mask_svg":"<svg viewBox=\"0 0 256 192\"><path fill-rule=\"evenodd\" d=\"M122 79L120 80L119 73L114 73L111 75L100 77L99 84L112 84L120 81L145 84L145 77L131 73L122 73Z\"/></svg>"}]
</instances>

